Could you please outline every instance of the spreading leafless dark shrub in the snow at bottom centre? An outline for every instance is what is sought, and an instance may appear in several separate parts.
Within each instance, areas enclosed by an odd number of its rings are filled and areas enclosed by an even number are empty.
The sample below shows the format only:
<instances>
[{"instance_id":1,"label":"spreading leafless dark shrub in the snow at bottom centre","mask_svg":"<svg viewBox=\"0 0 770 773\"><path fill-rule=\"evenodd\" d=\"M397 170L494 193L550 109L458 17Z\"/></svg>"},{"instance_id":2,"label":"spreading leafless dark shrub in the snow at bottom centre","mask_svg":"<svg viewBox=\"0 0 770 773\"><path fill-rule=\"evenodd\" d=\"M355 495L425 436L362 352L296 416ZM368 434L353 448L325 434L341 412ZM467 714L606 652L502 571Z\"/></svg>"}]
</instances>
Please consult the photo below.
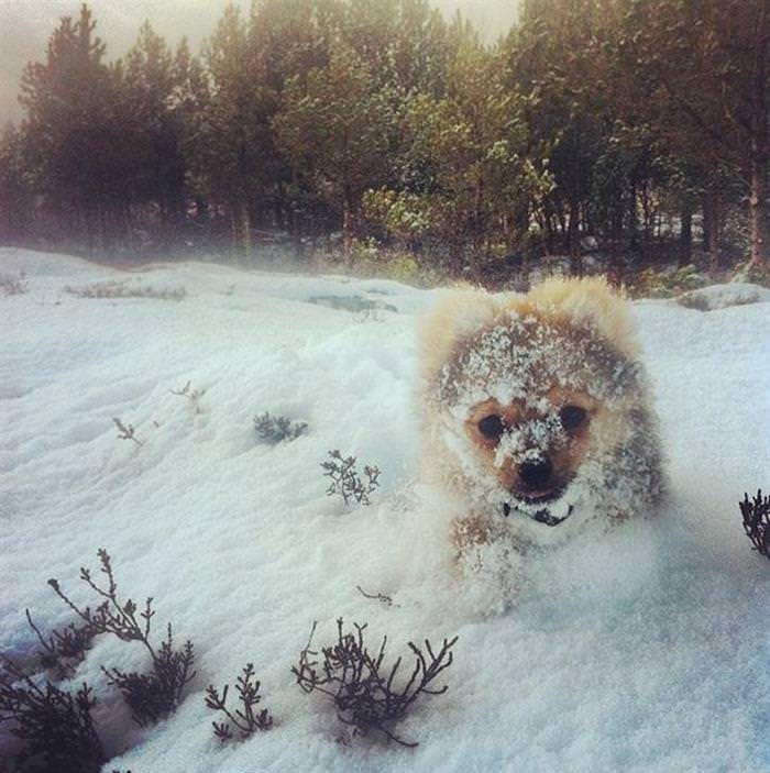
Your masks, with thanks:
<instances>
[{"instance_id":1,"label":"spreading leafless dark shrub in the snow at bottom centre","mask_svg":"<svg viewBox=\"0 0 770 773\"><path fill-rule=\"evenodd\" d=\"M421 694L447 692L446 685L439 688L430 685L452 664L451 650L458 637L444 639L438 653L427 639L425 650L409 642L415 665L404 683L397 678L402 658L389 669L383 665L387 637L383 638L376 654L372 654L364 642L366 626L353 623L353 627L355 632L344 633L342 619L337 621L337 642L321 648L322 660L319 662L319 653L310 649L316 632L316 623L312 625L310 639L299 653L299 662L292 669L297 684L306 693L319 692L328 696L334 704L337 716L344 725L352 726L354 733L378 730L402 746L416 747L417 742L396 736L391 726L406 716ZM398 682L402 686L397 686Z\"/></svg>"}]
</instances>

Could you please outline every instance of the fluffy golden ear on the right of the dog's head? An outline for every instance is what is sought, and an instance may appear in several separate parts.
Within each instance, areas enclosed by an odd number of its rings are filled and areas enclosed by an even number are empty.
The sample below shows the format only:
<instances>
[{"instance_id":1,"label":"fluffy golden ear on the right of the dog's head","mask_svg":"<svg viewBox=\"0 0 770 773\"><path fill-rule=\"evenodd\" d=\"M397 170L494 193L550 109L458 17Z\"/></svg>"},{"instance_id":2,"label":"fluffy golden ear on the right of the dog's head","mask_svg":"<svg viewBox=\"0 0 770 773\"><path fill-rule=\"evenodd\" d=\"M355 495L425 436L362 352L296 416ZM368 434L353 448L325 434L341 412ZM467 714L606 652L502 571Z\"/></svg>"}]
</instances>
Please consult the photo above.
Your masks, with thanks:
<instances>
[{"instance_id":1,"label":"fluffy golden ear on the right of the dog's head","mask_svg":"<svg viewBox=\"0 0 770 773\"><path fill-rule=\"evenodd\" d=\"M547 279L534 287L527 299L550 316L592 328L630 357L638 353L630 305L602 277Z\"/></svg>"}]
</instances>

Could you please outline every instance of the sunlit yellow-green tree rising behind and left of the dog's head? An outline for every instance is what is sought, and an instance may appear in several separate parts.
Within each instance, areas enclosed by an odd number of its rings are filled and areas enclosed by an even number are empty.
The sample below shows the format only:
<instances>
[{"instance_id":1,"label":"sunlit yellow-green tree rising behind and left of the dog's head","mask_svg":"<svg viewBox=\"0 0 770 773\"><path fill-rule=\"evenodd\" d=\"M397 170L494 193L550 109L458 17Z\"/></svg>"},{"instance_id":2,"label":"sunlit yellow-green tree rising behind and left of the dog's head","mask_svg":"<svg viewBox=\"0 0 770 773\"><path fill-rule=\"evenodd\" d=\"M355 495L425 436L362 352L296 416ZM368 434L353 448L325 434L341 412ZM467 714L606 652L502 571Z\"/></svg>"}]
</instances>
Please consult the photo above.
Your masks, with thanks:
<instances>
[{"instance_id":1,"label":"sunlit yellow-green tree rising behind and left of the dog's head","mask_svg":"<svg viewBox=\"0 0 770 773\"><path fill-rule=\"evenodd\" d=\"M446 96L409 100L400 189L366 199L370 217L402 241L448 245L453 270L469 255L510 250L549 186L527 157L524 100L507 88L501 65L496 52L466 35L448 65Z\"/></svg>"}]
</instances>

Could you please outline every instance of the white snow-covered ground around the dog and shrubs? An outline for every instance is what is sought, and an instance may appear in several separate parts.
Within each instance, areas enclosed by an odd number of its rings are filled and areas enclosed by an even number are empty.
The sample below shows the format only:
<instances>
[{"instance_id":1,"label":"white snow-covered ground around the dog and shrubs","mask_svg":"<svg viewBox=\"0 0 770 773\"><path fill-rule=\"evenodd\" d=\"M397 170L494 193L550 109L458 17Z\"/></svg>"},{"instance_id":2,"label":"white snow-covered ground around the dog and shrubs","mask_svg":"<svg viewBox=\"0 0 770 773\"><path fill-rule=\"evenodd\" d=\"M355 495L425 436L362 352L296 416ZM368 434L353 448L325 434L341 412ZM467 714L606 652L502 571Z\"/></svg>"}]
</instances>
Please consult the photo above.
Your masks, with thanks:
<instances>
[{"instance_id":1,"label":"white snow-covered ground around the dog and shrubs","mask_svg":"<svg viewBox=\"0 0 770 773\"><path fill-rule=\"evenodd\" d=\"M636 305L670 504L652 523L561 552L514 608L488 615L433 571L420 529L414 329L433 294L204 263L127 274L0 251L0 274L22 270L29 291L0 297L0 651L34 649L25 607L44 627L70 619L48 577L92 603L78 568L96 568L105 546L120 589L155 597L158 637L172 620L197 652L178 713L138 732L99 666L144 667L141 648L96 643L75 681L95 685L108 749L123 752L105 770L770 770L770 564L737 508L745 490L770 488L766 297L708 312ZM186 297L64 291L105 280ZM170 394L187 382L206 390L200 412ZM309 432L261 443L263 411ZM119 440L112 417L143 445ZM372 507L324 495L330 449L381 467ZM312 621L328 643L340 616L369 622L373 644L387 633L394 658L409 639L459 634L449 692L398 727L417 749L337 743L333 711L294 684ZM276 726L222 747L204 689L232 684L246 661ZM0 769L7 748L0 738Z\"/></svg>"}]
</instances>

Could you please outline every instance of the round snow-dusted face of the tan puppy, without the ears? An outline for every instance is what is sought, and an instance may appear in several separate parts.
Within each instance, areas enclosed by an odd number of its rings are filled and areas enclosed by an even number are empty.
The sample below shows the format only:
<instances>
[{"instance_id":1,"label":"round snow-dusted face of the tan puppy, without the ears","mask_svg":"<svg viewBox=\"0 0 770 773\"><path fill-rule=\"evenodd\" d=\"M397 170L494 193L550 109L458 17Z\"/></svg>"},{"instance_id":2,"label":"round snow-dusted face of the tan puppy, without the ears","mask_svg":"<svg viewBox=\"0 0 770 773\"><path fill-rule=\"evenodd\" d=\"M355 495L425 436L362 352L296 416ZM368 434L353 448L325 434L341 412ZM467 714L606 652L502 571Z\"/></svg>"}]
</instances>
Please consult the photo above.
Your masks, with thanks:
<instances>
[{"instance_id":1,"label":"round snow-dusted face of the tan puppy, without the ears","mask_svg":"<svg viewBox=\"0 0 770 773\"><path fill-rule=\"evenodd\" d=\"M650 455L635 358L592 314L529 302L490 308L470 330L439 340L425 404L430 464L476 516L547 531L571 519L586 492L606 492L606 503L630 496L647 475L631 468L632 454L640 467ZM638 481L626 486L630 476Z\"/></svg>"}]
</instances>

